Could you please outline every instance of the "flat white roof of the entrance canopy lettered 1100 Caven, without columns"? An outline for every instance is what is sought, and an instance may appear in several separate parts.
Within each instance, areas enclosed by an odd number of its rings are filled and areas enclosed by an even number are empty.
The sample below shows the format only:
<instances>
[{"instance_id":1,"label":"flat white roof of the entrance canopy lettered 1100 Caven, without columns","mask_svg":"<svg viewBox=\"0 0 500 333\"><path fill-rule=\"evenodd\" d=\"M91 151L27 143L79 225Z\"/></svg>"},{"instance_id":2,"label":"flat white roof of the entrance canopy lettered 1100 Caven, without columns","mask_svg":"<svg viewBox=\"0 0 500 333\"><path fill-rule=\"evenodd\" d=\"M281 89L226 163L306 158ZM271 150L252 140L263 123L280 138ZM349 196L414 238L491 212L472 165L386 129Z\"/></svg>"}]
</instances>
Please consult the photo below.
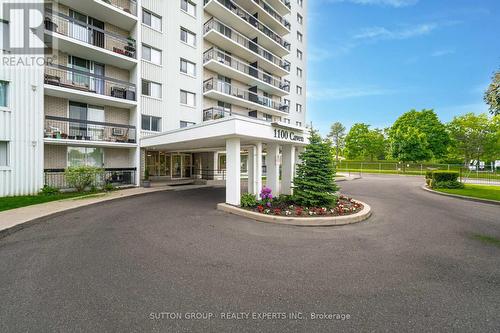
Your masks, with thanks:
<instances>
[{"instance_id":1,"label":"flat white roof of the entrance canopy lettered 1100 Caven, without columns","mask_svg":"<svg viewBox=\"0 0 500 333\"><path fill-rule=\"evenodd\" d=\"M141 147L164 151L225 150L226 140L235 137L240 138L241 146L260 142L300 147L309 142L308 136L300 127L232 115L145 137Z\"/></svg>"}]
</instances>

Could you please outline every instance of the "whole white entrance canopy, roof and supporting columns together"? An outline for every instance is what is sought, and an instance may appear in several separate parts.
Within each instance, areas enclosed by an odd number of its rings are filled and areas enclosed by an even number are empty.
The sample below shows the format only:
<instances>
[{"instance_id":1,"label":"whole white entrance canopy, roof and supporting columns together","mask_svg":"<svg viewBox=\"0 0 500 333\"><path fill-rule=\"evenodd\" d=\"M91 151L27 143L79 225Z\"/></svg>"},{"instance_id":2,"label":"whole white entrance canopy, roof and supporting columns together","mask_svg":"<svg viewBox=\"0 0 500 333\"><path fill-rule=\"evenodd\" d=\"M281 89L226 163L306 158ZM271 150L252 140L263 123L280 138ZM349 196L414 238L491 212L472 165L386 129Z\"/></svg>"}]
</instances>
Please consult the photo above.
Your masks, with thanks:
<instances>
[{"instance_id":1,"label":"whole white entrance canopy, roof and supporting columns together","mask_svg":"<svg viewBox=\"0 0 500 333\"><path fill-rule=\"evenodd\" d=\"M165 152L224 150L226 203L239 205L242 149L248 151L249 193L257 196L262 188L262 151L265 144L266 186L272 189L274 195L292 194L296 151L308 142L309 132L302 128L233 115L143 138L141 147Z\"/></svg>"}]
</instances>

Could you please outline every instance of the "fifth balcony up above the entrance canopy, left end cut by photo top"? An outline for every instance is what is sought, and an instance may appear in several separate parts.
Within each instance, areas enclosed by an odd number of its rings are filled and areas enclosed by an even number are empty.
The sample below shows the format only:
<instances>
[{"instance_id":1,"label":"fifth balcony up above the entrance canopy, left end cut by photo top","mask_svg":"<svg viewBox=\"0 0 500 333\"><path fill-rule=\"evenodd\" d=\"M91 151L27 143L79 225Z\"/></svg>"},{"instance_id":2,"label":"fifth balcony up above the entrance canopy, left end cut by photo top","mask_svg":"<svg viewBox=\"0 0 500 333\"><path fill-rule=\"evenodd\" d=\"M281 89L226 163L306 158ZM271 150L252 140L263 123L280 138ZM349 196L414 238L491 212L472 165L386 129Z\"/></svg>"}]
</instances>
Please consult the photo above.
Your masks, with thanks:
<instances>
[{"instance_id":1,"label":"fifth balcony up above the entrance canopy, left end cut by photo top","mask_svg":"<svg viewBox=\"0 0 500 333\"><path fill-rule=\"evenodd\" d=\"M290 43L232 0L205 0L205 10L258 44L282 57L290 53Z\"/></svg>"}]
</instances>

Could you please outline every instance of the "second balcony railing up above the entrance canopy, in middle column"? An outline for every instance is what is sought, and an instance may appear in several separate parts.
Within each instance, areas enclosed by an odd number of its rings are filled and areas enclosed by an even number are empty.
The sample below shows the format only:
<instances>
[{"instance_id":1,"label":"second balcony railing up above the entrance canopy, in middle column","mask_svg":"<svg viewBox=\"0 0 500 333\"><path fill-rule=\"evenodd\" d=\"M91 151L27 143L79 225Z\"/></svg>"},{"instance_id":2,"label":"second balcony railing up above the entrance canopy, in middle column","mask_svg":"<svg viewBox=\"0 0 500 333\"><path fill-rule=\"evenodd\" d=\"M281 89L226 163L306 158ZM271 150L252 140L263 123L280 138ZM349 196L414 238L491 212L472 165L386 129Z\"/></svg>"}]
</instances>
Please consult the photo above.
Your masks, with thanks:
<instances>
[{"instance_id":1,"label":"second balcony railing up above the entrance canopy, in middle column","mask_svg":"<svg viewBox=\"0 0 500 333\"><path fill-rule=\"evenodd\" d=\"M231 84L218 80L216 78L210 78L203 82L203 92L208 92L210 90L215 90L220 93L231 95L236 98L244 99L246 101L256 103L276 111L288 113L288 105L282 104L280 102L273 101L269 97L258 95L257 93L233 87Z\"/></svg>"}]
</instances>

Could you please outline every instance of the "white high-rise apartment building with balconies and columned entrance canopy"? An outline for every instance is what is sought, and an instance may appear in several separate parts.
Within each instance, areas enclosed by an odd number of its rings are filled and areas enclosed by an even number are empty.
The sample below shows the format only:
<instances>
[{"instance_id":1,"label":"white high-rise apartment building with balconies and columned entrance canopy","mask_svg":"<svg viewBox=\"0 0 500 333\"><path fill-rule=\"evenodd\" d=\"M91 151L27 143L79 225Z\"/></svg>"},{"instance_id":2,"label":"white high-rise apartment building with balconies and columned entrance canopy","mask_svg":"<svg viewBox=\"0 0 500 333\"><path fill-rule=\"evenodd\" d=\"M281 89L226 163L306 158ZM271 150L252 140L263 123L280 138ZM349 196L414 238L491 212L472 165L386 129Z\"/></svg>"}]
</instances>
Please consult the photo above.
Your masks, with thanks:
<instances>
[{"instance_id":1,"label":"white high-rise apartment building with balconies and columned entrance canopy","mask_svg":"<svg viewBox=\"0 0 500 333\"><path fill-rule=\"evenodd\" d=\"M265 164L268 185L291 191L307 143L306 0L44 6L52 61L0 69L0 195L64 187L64 169L82 164L116 184L140 185L146 169L226 179L231 203L242 175L258 191ZM0 18L22 38L12 14Z\"/></svg>"}]
</instances>

